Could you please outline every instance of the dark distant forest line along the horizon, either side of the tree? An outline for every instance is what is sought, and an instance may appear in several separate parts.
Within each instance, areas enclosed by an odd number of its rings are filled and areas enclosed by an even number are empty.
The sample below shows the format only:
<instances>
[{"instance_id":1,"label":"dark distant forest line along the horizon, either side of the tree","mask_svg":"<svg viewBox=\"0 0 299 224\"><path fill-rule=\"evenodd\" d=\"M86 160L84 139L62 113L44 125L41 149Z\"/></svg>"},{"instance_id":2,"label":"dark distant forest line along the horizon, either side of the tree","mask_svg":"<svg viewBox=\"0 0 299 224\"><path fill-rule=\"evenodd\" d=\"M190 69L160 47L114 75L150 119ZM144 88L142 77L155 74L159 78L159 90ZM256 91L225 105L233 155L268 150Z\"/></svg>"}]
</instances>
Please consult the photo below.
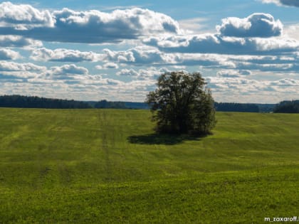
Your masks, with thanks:
<instances>
[{"instance_id":1,"label":"dark distant forest line along the horizon, either side of the tree","mask_svg":"<svg viewBox=\"0 0 299 224\"><path fill-rule=\"evenodd\" d=\"M49 109L88 109L88 108L117 108L117 109L149 109L145 102L112 102L60 100L44 97L28 97L21 95L0 96L0 107L19 108L49 108ZM234 102L215 102L216 111L222 112L279 112L298 113L299 100L283 101L279 104L252 104Z\"/></svg>"}]
</instances>

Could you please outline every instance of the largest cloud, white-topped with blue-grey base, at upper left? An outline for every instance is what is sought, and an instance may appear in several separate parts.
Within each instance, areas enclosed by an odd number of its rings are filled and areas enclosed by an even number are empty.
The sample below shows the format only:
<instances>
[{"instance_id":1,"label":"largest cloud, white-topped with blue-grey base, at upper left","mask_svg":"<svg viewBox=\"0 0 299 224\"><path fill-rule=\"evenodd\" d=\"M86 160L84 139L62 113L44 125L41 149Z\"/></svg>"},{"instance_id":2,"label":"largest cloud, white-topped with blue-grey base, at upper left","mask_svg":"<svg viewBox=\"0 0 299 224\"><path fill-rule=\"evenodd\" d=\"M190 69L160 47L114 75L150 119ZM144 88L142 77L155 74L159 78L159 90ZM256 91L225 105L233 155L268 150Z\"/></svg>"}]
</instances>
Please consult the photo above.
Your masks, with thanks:
<instances>
[{"instance_id":1,"label":"largest cloud, white-topped with blue-grey base, at upper left","mask_svg":"<svg viewBox=\"0 0 299 224\"><path fill-rule=\"evenodd\" d=\"M148 9L40 11L29 5L0 4L0 34L41 41L112 43L161 33L181 33L171 17Z\"/></svg>"}]
</instances>

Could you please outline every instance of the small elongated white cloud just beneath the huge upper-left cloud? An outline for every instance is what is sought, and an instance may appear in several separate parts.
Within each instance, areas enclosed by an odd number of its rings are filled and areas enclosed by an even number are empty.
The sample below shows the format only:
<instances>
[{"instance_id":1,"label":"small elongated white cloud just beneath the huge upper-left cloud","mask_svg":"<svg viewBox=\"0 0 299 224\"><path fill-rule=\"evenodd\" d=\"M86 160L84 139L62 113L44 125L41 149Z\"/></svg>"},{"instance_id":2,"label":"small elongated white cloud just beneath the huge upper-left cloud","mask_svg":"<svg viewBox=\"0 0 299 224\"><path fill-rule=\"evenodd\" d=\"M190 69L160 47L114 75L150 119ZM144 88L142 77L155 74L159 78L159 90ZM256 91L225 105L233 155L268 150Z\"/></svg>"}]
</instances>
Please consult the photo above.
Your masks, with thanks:
<instances>
[{"instance_id":1,"label":"small elongated white cloud just beneath the huge upper-left cloud","mask_svg":"<svg viewBox=\"0 0 299 224\"><path fill-rule=\"evenodd\" d=\"M92 51L68 50L58 48L55 50L47 48L34 49L31 53L33 60L57 61L57 62L82 62L103 60L104 55Z\"/></svg>"}]
</instances>

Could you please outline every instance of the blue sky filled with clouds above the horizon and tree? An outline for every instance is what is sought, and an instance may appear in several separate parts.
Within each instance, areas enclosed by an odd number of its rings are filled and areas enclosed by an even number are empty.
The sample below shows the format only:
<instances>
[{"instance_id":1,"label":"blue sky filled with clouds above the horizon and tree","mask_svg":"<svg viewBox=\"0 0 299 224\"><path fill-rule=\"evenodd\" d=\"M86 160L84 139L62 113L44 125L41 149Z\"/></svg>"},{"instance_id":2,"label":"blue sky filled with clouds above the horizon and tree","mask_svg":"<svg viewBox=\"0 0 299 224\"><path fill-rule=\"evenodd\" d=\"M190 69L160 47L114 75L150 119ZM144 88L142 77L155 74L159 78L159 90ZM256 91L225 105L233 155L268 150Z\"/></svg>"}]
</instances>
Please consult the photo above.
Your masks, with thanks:
<instances>
[{"instance_id":1,"label":"blue sky filled with clouds above the horizon and tree","mask_svg":"<svg viewBox=\"0 0 299 224\"><path fill-rule=\"evenodd\" d=\"M0 95L143 102L201 73L217 102L299 100L299 0L0 1Z\"/></svg>"}]
</instances>

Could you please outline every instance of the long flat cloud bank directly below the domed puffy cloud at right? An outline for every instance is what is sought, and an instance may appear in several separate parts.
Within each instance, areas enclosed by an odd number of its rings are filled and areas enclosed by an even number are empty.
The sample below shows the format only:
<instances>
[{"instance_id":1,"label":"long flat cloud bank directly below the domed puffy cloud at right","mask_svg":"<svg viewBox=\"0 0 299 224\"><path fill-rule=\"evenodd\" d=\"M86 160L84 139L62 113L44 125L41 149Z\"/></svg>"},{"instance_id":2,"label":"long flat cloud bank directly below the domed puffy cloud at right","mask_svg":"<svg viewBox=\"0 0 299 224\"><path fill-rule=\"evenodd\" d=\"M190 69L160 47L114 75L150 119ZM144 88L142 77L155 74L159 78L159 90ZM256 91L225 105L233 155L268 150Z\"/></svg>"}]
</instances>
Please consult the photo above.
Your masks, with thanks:
<instances>
[{"instance_id":1,"label":"long flat cloud bank directly below the domed puffy cloud at right","mask_svg":"<svg viewBox=\"0 0 299 224\"><path fill-rule=\"evenodd\" d=\"M218 34L152 37L144 43L167 53L256 55L290 53L299 49L299 41L290 38L235 38Z\"/></svg>"}]
</instances>

